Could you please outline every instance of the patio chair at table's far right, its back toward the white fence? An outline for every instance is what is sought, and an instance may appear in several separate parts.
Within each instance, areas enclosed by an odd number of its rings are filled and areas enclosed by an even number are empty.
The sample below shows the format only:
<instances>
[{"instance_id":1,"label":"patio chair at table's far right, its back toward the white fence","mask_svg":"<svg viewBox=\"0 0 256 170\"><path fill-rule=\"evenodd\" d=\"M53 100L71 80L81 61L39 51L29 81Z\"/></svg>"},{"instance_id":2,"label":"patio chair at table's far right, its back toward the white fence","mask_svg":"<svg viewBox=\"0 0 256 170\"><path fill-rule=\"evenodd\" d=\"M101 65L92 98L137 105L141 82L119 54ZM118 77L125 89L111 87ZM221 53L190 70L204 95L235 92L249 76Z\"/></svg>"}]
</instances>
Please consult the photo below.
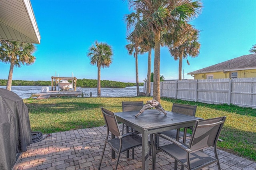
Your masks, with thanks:
<instances>
[{"instance_id":1,"label":"patio chair at table's far right, its back toward the white fence","mask_svg":"<svg viewBox=\"0 0 256 170\"><path fill-rule=\"evenodd\" d=\"M172 104L172 112L180 113L183 115L195 116L196 115L196 105L192 106L192 105L173 103ZM176 139L177 137L180 138L183 136L183 143L186 143L187 129L193 130L193 127L185 127L184 132L180 131L180 129L173 129L173 130L167 130L164 132L160 132L160 134L165 134L173 139ZM178 130L178 133L177 133L177 130ZM188 135L190 135L190 134L188 134ZM157 140L158 140L158 138L157 138Z\"/></svg>"}]
</instances>

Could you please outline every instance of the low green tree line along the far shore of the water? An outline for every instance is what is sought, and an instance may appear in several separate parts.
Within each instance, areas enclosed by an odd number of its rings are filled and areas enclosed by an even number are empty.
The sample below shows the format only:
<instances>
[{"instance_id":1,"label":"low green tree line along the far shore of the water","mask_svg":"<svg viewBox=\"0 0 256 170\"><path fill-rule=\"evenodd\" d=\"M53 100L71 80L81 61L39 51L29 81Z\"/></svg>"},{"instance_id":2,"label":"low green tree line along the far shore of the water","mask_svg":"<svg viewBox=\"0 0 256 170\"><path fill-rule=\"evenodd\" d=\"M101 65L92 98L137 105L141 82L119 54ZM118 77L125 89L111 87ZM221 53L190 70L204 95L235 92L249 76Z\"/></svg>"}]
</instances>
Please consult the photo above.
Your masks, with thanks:
<instances>
[{"instance_id":1,"label":"low green tree line along the far shore of the water","mask_svg":"<svg viewBox=\"0 0 256 170\"><path fill-rule=\"evenodd\" d=\"M6 86L8 80L0 79L0 85ZM77 79L77 87L97 87L98 80L92 79ZM101 80L101 87L110 88L124 88L136 85L136 83L123 83L119 81ZM139 83L143 86L143 83ZM26 80L12 80L13 86L51 86L51 81L26 81Z\"/></svg>"}]
</instances>

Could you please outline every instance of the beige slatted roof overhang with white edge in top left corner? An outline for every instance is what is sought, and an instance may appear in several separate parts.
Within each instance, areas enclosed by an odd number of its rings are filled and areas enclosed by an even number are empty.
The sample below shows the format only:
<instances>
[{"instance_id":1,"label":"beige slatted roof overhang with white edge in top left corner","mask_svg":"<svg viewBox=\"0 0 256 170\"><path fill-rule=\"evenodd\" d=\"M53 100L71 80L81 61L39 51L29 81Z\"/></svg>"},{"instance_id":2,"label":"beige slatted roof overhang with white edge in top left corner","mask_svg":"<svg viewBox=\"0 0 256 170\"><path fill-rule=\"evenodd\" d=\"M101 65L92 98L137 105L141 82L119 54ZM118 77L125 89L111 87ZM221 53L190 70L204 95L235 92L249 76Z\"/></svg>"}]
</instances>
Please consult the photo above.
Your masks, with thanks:
<instances>
[{"instance_id":1,"label":"beige slatted roof overhang with white edge in top left corner","mask_svg":"<svg viewBox=\"0 0 256 170\"><path fill-rule=\"evenodd\" d=\"M0 39L40 44L30 0L0 0Z\"/></svg>"}]
</instances>

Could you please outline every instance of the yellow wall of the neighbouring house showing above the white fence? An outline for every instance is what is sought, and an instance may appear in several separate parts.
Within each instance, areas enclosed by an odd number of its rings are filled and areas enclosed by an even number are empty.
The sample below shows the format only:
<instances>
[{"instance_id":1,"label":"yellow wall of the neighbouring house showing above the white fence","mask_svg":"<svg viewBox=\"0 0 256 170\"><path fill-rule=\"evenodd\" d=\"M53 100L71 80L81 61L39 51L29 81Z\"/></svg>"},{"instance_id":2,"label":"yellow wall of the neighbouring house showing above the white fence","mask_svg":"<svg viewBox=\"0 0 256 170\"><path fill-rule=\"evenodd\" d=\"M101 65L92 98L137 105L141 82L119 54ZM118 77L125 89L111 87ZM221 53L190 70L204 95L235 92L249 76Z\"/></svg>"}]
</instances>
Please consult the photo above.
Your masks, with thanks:
<instances>
[{"instance_id":1,"label":"yellow wall of the neighbouring house showing above the white fence","mask_svg":"<svg viewBox=\"0 0 256 170\"><path fill-rule=\"evenodd\" d=\"M215 73L202 73L194 75L194 79L207 79L207 75L213 75L214 79L226 79L231 78L231 72L237 72L237 78L248 78L248 77L256 77L256 69L250 70L239 70L239 71L227 71L223 72L215 72Z\"/></svg>"}]
</instances>

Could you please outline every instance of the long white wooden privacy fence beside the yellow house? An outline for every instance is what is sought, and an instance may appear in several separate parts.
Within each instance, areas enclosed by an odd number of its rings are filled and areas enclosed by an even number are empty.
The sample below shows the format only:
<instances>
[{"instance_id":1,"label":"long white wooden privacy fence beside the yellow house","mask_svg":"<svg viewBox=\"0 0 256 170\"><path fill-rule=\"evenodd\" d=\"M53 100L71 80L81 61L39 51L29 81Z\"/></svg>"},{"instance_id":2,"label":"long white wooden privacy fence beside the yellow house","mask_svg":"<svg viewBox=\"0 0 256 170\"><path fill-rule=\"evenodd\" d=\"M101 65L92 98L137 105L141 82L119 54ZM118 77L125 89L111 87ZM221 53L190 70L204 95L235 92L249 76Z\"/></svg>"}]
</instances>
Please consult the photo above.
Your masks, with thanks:
<instances>
[{"instance_id":1,"label":"long white wooden privacy fence beside the yellow house","mask_svg":"<svg viewBox=\"0 0 256 170\"><path fill-rule=\"evenodd\" d=\"M144 93L146 93L144 83ZM151 83L151 96L153 83ZM160 82L160 96L202 103L256 108L256 77Z\"/></svg>"}]
</instances>

